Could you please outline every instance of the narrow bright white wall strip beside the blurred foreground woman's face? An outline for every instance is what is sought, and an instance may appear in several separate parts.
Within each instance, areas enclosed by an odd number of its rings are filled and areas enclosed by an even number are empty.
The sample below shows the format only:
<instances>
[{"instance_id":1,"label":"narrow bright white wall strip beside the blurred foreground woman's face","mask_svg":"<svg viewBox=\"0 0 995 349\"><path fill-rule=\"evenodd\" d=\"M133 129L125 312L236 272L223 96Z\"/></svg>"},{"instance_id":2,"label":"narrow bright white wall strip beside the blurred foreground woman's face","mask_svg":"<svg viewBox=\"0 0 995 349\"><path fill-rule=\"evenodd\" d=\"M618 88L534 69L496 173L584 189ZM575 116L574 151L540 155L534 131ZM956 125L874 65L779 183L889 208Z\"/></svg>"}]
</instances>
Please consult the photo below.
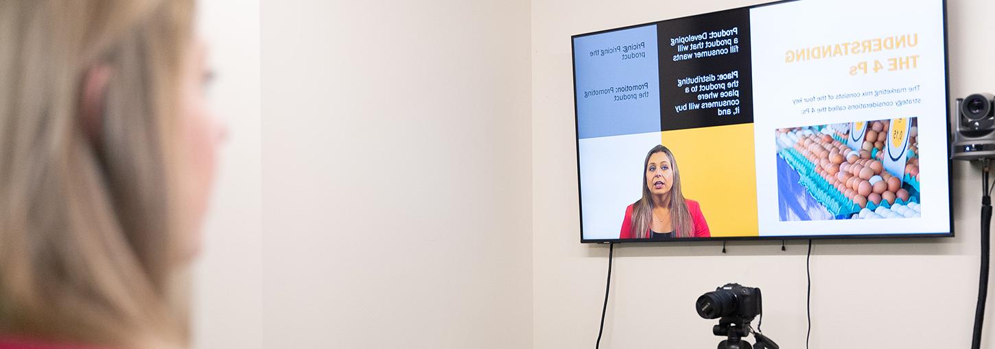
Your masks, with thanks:
<instances>
[{"instance_id":1,"label":"narrow bright white wall strip beside the blurred foreground woman's face","mask_svg":"<svg viewBox=\"0 0 995 349\"><path fill-rule=\"evenodd\" d=\"M259 1L202 0L197 10L216 76L208 100L228 139L193 268L193 346L262 348Z\"/></svg>"}]
</instances>

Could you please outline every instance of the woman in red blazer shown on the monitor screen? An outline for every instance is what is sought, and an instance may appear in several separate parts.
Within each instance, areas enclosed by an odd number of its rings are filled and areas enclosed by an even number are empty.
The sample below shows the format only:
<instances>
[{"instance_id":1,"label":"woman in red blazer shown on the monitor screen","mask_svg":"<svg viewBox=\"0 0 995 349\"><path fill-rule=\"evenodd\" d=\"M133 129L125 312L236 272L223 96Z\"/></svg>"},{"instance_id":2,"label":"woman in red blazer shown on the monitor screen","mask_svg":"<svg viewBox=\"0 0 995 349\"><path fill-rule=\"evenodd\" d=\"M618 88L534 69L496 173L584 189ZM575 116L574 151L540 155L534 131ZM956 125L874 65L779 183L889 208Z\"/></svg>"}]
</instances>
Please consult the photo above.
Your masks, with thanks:
<instances>
[{"instance_id":1,"label":"woman in red blazer shown on the monitor screen","mask_svg":"<svg viewBox=\"0 0 995 349\"><path fill-rule=\"evenodd\" d=\"M681 172L670 149L653 147L643 170L643 197L626 207L620 239L711 237L701 206L681 192Z\"/></svg>"}]
</instances>

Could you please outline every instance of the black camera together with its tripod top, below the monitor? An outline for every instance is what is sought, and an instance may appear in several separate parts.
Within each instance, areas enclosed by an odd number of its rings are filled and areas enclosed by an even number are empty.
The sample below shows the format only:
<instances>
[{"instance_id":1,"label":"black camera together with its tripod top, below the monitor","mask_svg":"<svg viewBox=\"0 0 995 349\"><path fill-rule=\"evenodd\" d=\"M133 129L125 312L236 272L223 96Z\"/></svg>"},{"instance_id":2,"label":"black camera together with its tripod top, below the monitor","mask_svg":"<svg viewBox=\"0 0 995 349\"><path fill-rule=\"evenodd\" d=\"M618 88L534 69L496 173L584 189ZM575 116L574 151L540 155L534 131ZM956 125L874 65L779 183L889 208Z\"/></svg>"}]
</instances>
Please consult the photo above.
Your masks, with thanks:
<instances>
[{"instance_id":1,"label":"black camera together with its tripod top, below the monitor","mask_svg":"<svg viewBox=\"0 0 995 349\"><path fill-rule=\"evenodd\" d=\"M750 321L763 313L760 289L739 284L725 284L697 297L695 308L702 318L718 318L712 334L727 337L718 343L718 349L778 349L774 341L753 331ZM752 346L743 337L753 333L756 343Z\"/></svg>"}]
</instances>

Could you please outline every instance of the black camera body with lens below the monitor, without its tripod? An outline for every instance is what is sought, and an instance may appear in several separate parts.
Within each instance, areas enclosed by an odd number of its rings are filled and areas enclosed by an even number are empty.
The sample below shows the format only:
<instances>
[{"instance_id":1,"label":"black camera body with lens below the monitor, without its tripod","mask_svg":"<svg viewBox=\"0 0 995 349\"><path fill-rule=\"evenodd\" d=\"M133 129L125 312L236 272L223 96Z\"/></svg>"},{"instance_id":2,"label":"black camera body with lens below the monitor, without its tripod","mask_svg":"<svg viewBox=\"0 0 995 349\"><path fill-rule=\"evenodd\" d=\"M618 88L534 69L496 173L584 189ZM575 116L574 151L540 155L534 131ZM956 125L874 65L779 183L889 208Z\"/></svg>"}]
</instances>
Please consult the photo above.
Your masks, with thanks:
<instances>
[{"instance_id":1,"label":"black camera body with lens below the monitor, without its tripod","mask_svg":"<svg viewBox=\"0 0 995 349\"><path fill-rule=\"evenodd\" d=\"M725 284L697 297L697 314L703 318L734 317L752 320L763 312L760 289Z\"/></svg>"}]
</instances>

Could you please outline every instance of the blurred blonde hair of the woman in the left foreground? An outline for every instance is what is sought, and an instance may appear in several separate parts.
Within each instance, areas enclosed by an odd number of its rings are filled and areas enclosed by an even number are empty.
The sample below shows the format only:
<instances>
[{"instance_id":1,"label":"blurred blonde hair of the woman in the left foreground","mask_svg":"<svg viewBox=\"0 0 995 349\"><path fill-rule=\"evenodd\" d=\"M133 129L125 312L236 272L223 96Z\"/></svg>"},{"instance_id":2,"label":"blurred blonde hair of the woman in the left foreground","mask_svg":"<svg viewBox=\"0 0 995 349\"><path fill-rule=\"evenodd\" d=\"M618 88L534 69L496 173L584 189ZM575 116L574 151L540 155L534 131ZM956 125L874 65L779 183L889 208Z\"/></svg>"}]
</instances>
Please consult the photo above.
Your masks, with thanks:
<instances>
[{"instance_id":1,"label":"blurred blonde hair of the woman in the left foreground","mask_svg":"<svg viewBox=\"0 0 995 349\"><path fill-rule=\"evenodd\" d=\"M193 6L0 1L0 334L187 345L171 278ZM95 66L111 73L88 132Z\"/></svg>"}]
</instances>

